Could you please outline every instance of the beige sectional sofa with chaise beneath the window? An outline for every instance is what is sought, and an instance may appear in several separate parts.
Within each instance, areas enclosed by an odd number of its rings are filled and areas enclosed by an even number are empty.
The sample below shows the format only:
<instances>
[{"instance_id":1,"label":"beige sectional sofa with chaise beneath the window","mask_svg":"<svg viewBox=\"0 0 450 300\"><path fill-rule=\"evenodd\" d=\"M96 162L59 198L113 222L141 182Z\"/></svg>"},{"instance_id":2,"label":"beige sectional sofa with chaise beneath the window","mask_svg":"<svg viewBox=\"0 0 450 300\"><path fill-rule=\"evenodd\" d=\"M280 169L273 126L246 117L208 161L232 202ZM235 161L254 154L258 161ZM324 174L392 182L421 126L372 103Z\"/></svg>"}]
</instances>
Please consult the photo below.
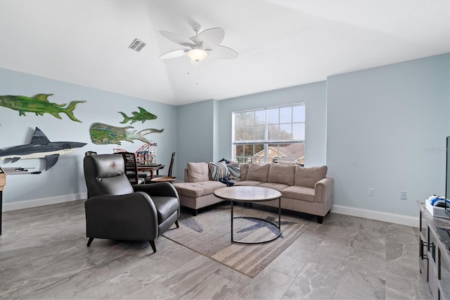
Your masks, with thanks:
<instances>
[{"instance_id":1,"label":"beige sectional sofa with chaise beneath the window","mask_svg":"<svg viewBox=\"0 0 450 300\"><path fill-rule=\"evenodd\" d=\"M223 201L213 194L214 190L226 187L226 184L212 180L214 165L217 163L188 163L184 182L174 184L181 206L193 208L194 215L199 208ZM326 165L304 168L279 163L231 163L227 166L232 172L226 174L234 185L276 189L282 195L281 208L316 215L318 223L323 222L323 217L333 205L334 180L326 177ZM278 201L259 204L278 207Z\"/></svg>"}]
</instances>

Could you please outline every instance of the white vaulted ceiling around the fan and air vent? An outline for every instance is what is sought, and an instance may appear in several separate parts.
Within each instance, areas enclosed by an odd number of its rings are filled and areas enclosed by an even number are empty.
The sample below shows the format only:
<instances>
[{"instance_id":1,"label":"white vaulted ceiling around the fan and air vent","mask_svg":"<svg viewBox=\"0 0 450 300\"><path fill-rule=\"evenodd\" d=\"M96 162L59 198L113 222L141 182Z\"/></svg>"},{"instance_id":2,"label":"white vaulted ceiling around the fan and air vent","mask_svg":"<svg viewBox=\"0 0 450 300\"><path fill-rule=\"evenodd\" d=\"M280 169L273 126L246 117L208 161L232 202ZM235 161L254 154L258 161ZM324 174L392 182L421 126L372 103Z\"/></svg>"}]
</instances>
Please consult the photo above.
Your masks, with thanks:
<instances>
[{"instance_id":1,"label":"white vaulted ceiling around the fan and air vent","mask_svg":"<svg viewBox=\"0 0 450 300\"><path fill-rule=\"evenodd\" d=\"M194 23L224 28L239 58L160 60L183 46L158 30L191 37ZM0 68L174 105L446 52L447 0L0 0Z\"/></svg>"}]
</instances>

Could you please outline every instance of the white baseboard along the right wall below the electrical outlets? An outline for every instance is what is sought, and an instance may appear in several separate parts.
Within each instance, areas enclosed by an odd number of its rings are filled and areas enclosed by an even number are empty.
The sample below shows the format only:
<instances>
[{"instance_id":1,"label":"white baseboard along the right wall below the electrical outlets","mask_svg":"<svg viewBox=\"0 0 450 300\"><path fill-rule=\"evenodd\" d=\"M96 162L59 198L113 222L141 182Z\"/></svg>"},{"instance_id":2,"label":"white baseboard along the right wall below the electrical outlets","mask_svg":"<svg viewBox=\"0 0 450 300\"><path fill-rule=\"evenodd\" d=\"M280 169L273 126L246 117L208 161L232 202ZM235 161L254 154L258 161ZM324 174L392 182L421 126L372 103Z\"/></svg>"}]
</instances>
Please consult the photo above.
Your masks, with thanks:
<instances>
[{"instance_id":1,"label":"white baseboard along the right wall below the electrical outlets","mask_svg":"<svg viewBox=\"0 0 450 300\"><path fill-rule=\"evenodd\" d=\"M419 218L410 215L397 215L396 213L385 213L383 211L371 211L364 208L354 208L350 206L333 205L333 213L342 213L343 215L353 215L355 217L379 220L411 227L419 227Z\"/></svg>"}]
</instances>

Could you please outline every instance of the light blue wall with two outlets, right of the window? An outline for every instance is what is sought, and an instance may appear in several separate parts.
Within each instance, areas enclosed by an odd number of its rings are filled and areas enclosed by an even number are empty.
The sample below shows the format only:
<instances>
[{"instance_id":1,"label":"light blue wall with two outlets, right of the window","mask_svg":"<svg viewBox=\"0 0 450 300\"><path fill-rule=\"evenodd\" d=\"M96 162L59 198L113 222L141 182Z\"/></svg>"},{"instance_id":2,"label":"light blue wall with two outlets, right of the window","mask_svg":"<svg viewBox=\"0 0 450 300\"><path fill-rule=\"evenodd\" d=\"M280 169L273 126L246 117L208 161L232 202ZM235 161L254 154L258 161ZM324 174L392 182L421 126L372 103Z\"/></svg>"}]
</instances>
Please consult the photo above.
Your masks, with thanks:
<instances>
[{"instance_id":1,"label":"light blue wall with two outlets, right of the window","mask_svg":"<svg viewBox=\"0 0 450 300\"><path fill-rule=\"evenodd\" d=\"M416 200L444 194L449 73L444 54L328 77L335 205L417 216Z\"/></svg>"}]
</instances>

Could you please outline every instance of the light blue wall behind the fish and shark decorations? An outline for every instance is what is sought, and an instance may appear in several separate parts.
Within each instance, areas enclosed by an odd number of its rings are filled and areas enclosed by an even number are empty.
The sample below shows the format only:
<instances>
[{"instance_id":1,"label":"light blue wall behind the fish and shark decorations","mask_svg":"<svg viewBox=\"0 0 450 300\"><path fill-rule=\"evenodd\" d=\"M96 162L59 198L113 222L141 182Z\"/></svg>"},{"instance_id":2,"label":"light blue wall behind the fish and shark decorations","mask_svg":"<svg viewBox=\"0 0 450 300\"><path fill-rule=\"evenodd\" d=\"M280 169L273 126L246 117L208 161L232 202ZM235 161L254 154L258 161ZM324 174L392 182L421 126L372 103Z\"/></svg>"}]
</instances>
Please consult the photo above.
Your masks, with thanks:
<instances>
[{"instance_id":1,"label":"light blue wall behind the fish and shark decorations","mask_svg":"<svg viewBox=\"0 0 450 300\"><path fill-rule=\"evenodd\" d=\"M60 114L62 119L55 118L47 113L44 115L26 113L26 116L20 116L18 111L0 106L0 149L30 143L35 127L39 127L51 142L87 143L82 149L72 154L60 156L58 163L53 168L42 172L40 175L8 175L4 189L4 203L47 199L86 192L82 169L85 151L97 151L99 154L113 153L114 148L136 151L143 145L143 142L139 140L135 140L134 143L124 141L121 146L96 145L91 142L89 127L94 122L118 127L125 126L120 124L123 117L117 113L118 111L130 115L131 111L136 111L137 107L141 106L158 116L156 120L148 120L146 123L133 123L131 126L134 129L130 129L140 131L146 128L164 128L162 133L146 135L149 140L158 143L158 162L167 165L172 151L176 149L176 106L5 69L0 69L0 82L0 95L53 94L49 97L49 101L57 104L68 103L73 100L86 100L86 103L78 104L74 112L75 117L82 120L82 123L70 120L63 113ZM6 163L6 160L1 160L0 165L2 168L20 166L33 167L34 170L45 170L44 159L24 159L15 163ZM174 170L176 172L176 168Z\"/></svg>"}]
</instances>

